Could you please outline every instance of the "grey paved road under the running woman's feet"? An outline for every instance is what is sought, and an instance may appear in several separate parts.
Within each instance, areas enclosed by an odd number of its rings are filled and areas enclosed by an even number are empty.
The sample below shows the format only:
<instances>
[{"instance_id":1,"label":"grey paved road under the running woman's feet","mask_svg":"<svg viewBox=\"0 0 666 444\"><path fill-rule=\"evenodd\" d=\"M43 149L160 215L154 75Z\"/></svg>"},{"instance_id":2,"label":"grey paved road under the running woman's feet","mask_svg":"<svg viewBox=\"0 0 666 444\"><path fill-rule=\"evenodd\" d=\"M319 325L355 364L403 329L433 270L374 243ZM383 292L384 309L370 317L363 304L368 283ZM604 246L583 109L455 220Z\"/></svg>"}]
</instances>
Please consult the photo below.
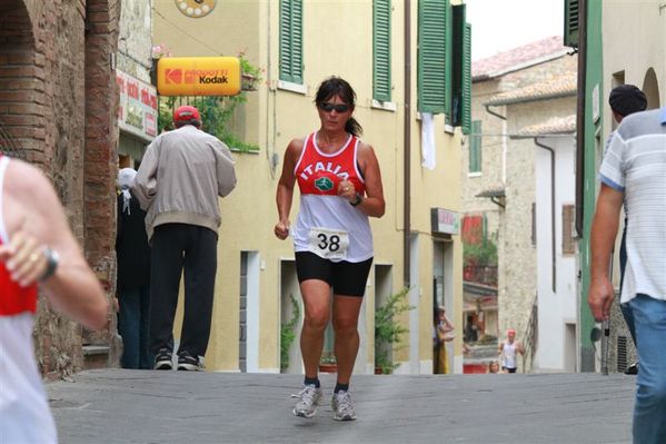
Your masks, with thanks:
<instances>
[{"instance_id":1,"label":"grey paved road under the running woman's feet","mask_svg":"<svg viewBox=\"0 0 666 444\"><path fill-rule=\"evenodd\" d=\"M322 375L330 399L331 375ZM102 369L47 385L62 444L628 443L625 375L354 377L358 421L291 415L298 375Z\"/></svg>"}]
</instances>

